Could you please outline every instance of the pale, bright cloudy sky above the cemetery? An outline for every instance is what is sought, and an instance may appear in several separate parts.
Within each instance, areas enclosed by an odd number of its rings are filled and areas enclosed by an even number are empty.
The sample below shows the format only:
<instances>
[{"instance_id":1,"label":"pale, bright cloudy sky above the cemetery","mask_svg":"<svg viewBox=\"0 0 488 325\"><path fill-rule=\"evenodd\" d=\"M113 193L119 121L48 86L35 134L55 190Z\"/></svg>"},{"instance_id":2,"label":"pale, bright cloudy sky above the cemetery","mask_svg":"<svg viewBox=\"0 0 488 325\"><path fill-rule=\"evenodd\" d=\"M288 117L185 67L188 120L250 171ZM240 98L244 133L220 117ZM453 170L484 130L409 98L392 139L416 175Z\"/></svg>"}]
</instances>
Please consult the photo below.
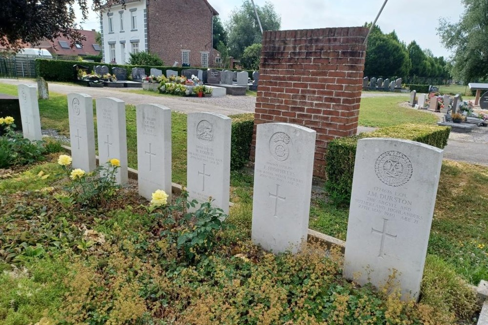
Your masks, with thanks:
<instances>
[{"instance_id":1,"label":"pale, bright cloudy sky above the cemetery","mask_svg":"<svg viewBox=\"0 0 488 325\"><path fill-rule=\"evenodd\" d=\"M156 0L157 1L157 0ZM208 0L225 23L242 0ZM281 29L362 26L373 21L384 0L274 0L275 11L281 16ZM265 0L254 0L262 6ZM451 55L437 36L439 18L457 22L464 12L461 0L388 0L377 21L384 33L393 30L406 44L415 40L421 48L430 49L434 56ZM100 30L96 13L91 13L83 29Z\"/></svg>"}]
</instances>

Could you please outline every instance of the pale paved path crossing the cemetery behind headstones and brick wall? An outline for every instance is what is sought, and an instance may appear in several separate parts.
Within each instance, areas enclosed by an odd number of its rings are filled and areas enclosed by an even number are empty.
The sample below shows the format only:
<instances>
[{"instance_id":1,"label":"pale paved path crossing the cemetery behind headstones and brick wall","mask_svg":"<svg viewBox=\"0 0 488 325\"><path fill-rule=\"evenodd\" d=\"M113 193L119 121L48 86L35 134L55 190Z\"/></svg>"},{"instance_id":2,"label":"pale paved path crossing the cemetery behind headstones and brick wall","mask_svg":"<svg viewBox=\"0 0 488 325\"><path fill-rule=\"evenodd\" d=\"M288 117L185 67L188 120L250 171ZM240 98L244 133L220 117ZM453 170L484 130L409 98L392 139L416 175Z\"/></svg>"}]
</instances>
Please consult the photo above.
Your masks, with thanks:
<instances>
[{"instance_id":1,"label":"pale paved path crossing the cemetery behind headstones and brick wall","mask_svg":"<svg viewBox=\"0 0 488 325\"><path fill-rule=\"evenodd\" d=\"M18 85L31 82L28 80L0 79L0 83ZM137 88L136 88L137 89ZM84 93L94 98L116 97L128 104L156 103L169 107L173 111L215 112L224 115L253 113L256 103L254 96L224 96L224 97L166 97L131 93L128 88L90 88L78 85L67 85L49 82L49 90L59 94ZM405 93L365 92L361 97L408 96ZM197 104L197 105L195 105ZM432 113L432 112L431 112ZM435 114L435 113L432 113ZM439 116L439 115L438 115ZM358 133L372 131L374 128L358 127ZM451 132L444 158L473 162L488 166L488 128L480 127L469 134Z\"/></svg>"}]
</instances>

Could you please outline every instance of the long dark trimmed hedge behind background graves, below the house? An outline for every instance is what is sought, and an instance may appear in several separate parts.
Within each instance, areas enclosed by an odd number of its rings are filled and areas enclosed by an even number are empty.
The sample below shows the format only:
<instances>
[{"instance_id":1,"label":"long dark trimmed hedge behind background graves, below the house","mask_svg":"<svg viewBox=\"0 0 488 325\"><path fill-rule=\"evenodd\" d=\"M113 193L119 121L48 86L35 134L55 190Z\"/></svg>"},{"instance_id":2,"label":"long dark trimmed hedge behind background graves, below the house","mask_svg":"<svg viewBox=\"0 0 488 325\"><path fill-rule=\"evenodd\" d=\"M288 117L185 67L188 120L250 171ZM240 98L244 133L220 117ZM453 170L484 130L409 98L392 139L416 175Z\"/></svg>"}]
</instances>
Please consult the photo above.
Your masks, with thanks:
<instances>
[{"instance_id":1,"label":"long dark trimmed hedge behind background graves, below the house","mask_svg":"<svg viewBox=\"0 0 488 325\"><path fill-rule=\"evenodd\" d=\"M178 75L182 75L182 71L186 69L203 69L206 68L199 68L199 67L165 67L165 66L148 66L148 65L122 65L122 64L110 64L110 63L98 63L98 62L89 62L89 61L64 61L64 60L48 60L48 59L36 59L36 76L41 76L47 81L73 81L74 80L74 71L73 65L80 64L83 66L88 67L89 71L95 69L97 65L106 65L109 71L112 71L114 67L120 67L127 71L127 78L131 74L132 68L143 68L146 72L146 75L149 76L151 72L151 68L159 69L163 71L163 75L166 75L166 70L174 70L178 71ZM224 70L224 69L217 69L217 70ZM241 70L236 70L241 71ZM252 71L247 71L249 76L252 78Z\"/></svg>"}]
</instances>

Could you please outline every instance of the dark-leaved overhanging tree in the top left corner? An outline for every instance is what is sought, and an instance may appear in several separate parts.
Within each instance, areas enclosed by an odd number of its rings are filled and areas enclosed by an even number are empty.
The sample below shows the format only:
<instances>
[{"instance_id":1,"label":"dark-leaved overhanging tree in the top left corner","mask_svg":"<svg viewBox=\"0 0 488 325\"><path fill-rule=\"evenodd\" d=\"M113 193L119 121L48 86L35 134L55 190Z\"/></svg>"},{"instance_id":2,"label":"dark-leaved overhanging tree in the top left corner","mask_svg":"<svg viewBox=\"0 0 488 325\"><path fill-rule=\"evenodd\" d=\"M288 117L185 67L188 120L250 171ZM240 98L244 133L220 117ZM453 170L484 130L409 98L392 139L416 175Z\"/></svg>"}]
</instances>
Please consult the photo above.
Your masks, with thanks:
<instances>
[{"instance_id":1,"label":"dark-leaved overhanging tree in the top left corner","mask_svg":"<svg viewBox=\"0 0 488 325\"><path fill-rule=\"evenodd\" d=\"M22 48L22 43L37 46L44 38L52 41L62 35L71 39L72 46L85 40L75 30L75 2L85 20L88 0L2 0L0 45L17 52ZM93 7L101 5L101 0L92 2Z\"/></svg>"}]
</instances>

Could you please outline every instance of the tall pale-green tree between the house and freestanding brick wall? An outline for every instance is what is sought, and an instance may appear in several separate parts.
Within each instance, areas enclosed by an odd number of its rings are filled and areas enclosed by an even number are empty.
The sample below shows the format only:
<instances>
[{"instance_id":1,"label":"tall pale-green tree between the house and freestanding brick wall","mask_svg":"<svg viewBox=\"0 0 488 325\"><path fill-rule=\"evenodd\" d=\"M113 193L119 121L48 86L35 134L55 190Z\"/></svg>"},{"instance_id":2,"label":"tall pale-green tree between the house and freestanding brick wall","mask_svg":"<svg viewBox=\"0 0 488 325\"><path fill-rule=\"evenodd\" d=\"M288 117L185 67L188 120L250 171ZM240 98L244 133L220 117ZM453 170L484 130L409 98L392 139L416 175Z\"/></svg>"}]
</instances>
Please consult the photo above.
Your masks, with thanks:
<instances>
[{"instance_id":1,"label":"tall pale-green tree between the house and freestanding brick wall","mask_svg":"<svg viewBox=\"0 0 488 325\"><path fill-rule=\"evenodd\" d=\"M256 6L263 30L279 30L281 17L274 11L271 2L266 1L264 6ZM241 58L244 49L252 44L261 43L263 35L254 13L251 1L244 0L240 8L234 9L226 24L228 35L229 55Z\"/></svg>"}]
</instances>

